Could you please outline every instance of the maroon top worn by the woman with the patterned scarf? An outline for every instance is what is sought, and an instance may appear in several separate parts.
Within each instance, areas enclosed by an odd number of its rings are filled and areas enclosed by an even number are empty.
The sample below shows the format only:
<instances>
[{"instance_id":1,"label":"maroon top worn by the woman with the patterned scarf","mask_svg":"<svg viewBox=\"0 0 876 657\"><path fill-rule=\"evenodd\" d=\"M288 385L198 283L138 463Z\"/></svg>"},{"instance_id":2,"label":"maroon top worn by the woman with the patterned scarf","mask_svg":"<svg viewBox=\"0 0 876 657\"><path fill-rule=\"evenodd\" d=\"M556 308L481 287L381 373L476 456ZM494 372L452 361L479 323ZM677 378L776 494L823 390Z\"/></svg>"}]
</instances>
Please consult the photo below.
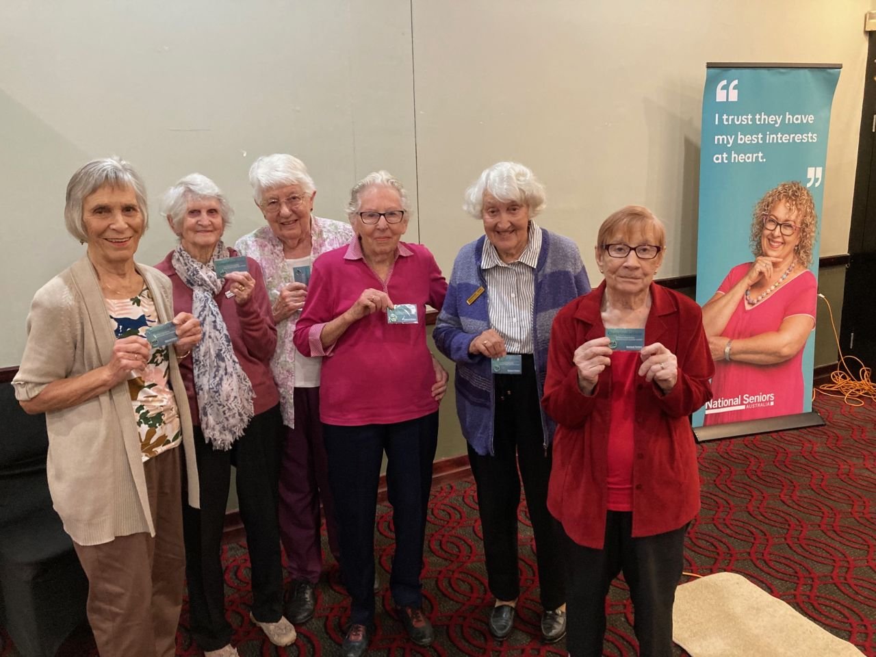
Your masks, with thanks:
<instances>
[{"instance_id":1,"label":"maroon top worn by the woman with the patterned scarf","mask_svg":"<svg viewBox=\"0 0 876 657\"><path fill-rule=\"evenodd\" d=\"M234 249L229 249L229 252L231 256L237 256L237 251ZM173 284L173 313L191 313L192 288L177 276L171 258L173 251L155 265L155 268L165 272ZM226 297L225 293L230 289L230 280L225 281L222 290L213 299L225 320L234 355L237 356L240 366L244 368L246 376L250 378L252 392L255 392L252 406L258 414L279 404L279 392L271 373L271 357L277 346L277 328L273 323L271 301L268 300L262 268L252 258L246 258L246 265L252 278L256 279L256 286L252 290L250 299L243 306L238 306L237 301ZM186 385L188 407L192 411L192 424L200 425L201 417L198 414L198 400L194 393L191 358L180 360L180 374L182 382Z\"/></svg>"}]
</instances>

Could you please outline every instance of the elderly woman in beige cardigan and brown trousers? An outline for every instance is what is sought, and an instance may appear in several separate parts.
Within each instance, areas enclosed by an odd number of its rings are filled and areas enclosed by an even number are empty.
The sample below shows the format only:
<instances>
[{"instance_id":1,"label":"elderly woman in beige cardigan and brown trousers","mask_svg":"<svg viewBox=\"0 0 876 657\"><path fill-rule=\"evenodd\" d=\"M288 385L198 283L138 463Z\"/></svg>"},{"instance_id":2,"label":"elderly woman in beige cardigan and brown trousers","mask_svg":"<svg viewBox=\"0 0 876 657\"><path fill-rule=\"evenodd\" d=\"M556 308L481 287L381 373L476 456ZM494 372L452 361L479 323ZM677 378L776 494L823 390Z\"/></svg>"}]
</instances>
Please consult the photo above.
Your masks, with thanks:
<instances>
[{"instance_id":1,"label":"elderly woman in beige cardigan and brown trousers","mask_svg":"<svg viewBox=\"0 0 876 657\"><path fill-rule=\"evenodd\" d=\"M173 657L184 577L180 446L198 505L192 422L177 359L201 340L173 315L167 277L134 262L145 187L120 159L67 185L67 230L86 254L39 289L16 397L46 413L53 505L88 576L88 620L105 657ZM172 345L147 327L173 322Z\"/></svg>"}]
</instances>

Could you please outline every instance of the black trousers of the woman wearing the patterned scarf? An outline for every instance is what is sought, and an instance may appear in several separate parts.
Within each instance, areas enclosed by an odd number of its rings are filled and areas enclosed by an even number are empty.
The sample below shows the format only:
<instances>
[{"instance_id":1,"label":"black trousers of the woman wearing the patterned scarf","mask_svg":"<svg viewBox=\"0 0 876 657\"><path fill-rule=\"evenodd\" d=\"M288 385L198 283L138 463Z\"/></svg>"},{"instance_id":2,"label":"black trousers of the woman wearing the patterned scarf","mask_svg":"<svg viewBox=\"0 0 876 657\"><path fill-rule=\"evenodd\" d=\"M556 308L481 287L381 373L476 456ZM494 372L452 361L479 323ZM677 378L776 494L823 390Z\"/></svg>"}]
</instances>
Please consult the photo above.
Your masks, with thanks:
<instances>
[{"instance_id":1,"label":"black trousers of the woman wearing the patterned scarf","mask_svg":"<svg viewBox=\"0 0 876 657\"><path fill-rule=\"evenodd\" d=\"M194 427L201 509L183 505L189 618L194 640L204 651L231 641L225 619L221 558L231 466L237 469L240 519L250 551L252 615L265 623L283 614L283 571L279 547L279 463L283 427L279 405L252 418L231 449L213 449Z\"/></svg>"}]
</instances>

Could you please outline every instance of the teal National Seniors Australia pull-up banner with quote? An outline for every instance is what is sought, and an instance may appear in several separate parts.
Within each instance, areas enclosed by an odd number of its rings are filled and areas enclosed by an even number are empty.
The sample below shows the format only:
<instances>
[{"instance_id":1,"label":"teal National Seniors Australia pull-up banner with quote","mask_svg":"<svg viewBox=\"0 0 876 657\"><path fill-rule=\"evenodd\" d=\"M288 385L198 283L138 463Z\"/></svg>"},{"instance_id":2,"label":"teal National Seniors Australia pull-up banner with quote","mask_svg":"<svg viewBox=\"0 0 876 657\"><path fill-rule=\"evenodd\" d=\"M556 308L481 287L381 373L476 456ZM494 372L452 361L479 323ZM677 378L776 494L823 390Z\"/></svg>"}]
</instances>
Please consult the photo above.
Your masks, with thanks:
<instances>
[{"instance_id":1,"label":"teal National Seniors Australia pull-up banner with quote","mask_svg":"<svg viewBox=\"0 0 876 657\"><path fill-rule=\"evenodd\" d=\"M708 64L696 301L715 377L700 441L812 410L818 237L838 64Z\"/></svg>"}]
</instances>

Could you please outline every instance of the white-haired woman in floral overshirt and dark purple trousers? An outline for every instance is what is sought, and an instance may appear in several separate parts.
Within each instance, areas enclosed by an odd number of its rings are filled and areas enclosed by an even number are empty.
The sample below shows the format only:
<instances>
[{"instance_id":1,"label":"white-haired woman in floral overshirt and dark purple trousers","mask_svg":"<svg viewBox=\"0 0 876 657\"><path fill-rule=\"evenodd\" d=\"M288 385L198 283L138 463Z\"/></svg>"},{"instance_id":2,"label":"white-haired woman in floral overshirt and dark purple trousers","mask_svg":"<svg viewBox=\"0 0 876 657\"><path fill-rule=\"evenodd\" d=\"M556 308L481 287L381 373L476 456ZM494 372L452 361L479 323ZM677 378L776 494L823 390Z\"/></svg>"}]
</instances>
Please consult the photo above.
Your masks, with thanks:
<instances>
[{"instance_id":1,"label":"white-haired woman in floral overshirt and dark purple trousers","mask_svg":"<svg viewBox=\"0 0 876 657\"><path fill-rule=\"evenodd\" d=\"M292 337L307 298L311 263L325 251L350 244L353 231L349 223L313 214L314 180L292 155L258 158L250 183L267 225L241 237L236 246L262 266L277 324L271 368L287 429L279 479L280 536L293 580L286 618L297 625L311 618L316 606L314 585L322 570L320 500L336 560L340 549L320 424L322 359L302 356Z\"/></svg>"}]
</instances>

